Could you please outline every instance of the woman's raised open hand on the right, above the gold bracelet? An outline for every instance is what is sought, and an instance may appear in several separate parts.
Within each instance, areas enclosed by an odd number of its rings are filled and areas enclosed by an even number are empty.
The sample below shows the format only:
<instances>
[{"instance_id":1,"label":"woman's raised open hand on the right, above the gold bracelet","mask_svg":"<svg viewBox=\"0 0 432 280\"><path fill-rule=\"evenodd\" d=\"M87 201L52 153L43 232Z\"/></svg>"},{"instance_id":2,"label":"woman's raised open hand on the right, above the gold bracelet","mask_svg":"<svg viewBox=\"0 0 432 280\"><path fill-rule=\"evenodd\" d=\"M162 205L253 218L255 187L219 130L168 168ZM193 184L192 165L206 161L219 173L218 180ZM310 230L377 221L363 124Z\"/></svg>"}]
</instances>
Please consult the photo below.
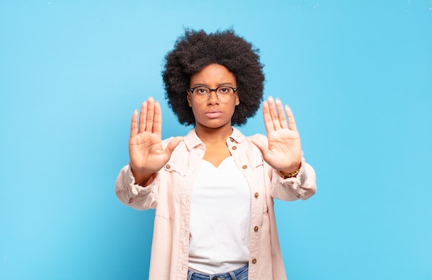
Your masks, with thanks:
<instances>
[{"instance_id":1,"label":"woman's raised open hand on the right, above the gold bracelet","mask_svg":"<svg viewBox=\"0 0 432 280\"><path fill-rule=\"evenodd\" d=\"M264 139L254 137L253 143L261 150L264 160L275 170L291 173L300 168L302 161L302 145L300 134L295 126L293 111L284 106L279 99L268 97L262 106L264 126L268 143Z\"/></svg>"}]
</instances>

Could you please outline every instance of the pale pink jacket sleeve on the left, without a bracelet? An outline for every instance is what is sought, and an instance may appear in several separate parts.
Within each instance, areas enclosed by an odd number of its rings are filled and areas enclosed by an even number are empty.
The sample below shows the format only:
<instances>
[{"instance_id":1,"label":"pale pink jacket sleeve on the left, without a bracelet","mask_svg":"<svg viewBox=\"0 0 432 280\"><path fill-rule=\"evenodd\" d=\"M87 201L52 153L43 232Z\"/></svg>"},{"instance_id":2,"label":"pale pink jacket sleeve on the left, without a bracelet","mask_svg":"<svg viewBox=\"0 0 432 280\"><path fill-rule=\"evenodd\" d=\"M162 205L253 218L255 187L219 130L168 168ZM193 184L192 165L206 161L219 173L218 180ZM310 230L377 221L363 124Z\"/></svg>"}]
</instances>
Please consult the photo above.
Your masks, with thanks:
<instances>
[{"instance_id":1,"label":"pale pink jacket sleeve on the left, without a bracelet","mask_svg":"<svg viewBox=\"0 0 432 280\"><path fill-rule=\"evenodd\" d=\"M157 186L159 174L150 179L148 186L139 186L128 164L121 169L115 181L115 194L121 203L137 210L147 210L157 206Z\"/></svg>"}]
</instances>

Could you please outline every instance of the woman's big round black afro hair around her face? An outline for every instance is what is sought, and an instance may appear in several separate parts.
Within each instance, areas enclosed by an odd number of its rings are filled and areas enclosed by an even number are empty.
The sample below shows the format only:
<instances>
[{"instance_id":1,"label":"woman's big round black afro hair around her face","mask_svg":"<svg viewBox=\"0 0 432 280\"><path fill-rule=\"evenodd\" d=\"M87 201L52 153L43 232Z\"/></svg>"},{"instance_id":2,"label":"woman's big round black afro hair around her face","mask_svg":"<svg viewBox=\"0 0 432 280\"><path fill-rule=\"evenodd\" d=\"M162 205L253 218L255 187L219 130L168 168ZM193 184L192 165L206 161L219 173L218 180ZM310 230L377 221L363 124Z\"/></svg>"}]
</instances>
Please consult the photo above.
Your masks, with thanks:
<instances>
[{"instance_id":1,"label":"woman's big round black afro hair around her face","mask_svg":"<svg viewBox=\"0 0 432 280\"><path fill-rule=\"evenodd\" d=\"M207 34L204 30L186 29L175 41L173 50L165 56L162 70L168 106L181 124L195 125L195 117L186 99L190 77L213 63L225 66L235 76L240 103L231 123L242 126L256 114L261 104L264 65L259 61L259 50L233 30Z\"/></svg>"}]
</instances>

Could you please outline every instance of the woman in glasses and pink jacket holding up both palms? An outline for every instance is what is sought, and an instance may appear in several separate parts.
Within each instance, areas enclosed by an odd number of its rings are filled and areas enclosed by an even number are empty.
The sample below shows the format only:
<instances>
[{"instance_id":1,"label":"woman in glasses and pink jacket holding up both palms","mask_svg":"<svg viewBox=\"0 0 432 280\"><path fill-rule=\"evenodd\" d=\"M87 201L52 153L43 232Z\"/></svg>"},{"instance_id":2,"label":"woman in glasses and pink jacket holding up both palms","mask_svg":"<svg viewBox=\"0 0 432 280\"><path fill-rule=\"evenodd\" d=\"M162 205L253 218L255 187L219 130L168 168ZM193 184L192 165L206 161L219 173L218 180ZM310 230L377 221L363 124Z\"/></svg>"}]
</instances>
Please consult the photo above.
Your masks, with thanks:
<instances>
[{"instance_id":1,"label":"woman in glasses and pink jacket holding up both palms","mask_svg":"<svg viewBox=\"0 0 432 280\"><path fill-rule=\"evenodd\" d=\"M132 208L156 209L152 280L286 279L273 198L308 199L315 172L279 99L262 103L267 137L233 128L262 102L257 52L232 30L186 30L162 76L170 108L195 128L162 141L161 108L151 97L132 115L130 162L115 191Z\"/></svg>"}]
</instances>

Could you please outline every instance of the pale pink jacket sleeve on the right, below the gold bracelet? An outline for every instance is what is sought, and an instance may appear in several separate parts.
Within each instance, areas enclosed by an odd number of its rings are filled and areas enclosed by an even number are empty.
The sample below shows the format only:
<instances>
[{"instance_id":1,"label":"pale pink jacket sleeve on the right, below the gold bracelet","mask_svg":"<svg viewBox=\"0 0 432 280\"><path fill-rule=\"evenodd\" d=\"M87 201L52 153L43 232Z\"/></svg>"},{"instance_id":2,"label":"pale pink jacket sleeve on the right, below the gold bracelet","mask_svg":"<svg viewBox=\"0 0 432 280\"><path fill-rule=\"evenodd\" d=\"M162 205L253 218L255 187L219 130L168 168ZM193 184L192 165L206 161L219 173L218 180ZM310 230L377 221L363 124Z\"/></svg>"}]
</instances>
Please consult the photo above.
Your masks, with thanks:
<instances>
[{"instance_id":1,"label":"pale pink jacket sleeve on the right, below the gold bracelet","mask_svg":"<svg viewBox=\"0 0 432 280\"><path fill-rule=\"evenodd\" d=\"M317 191L315 170L302 157L302 167L296 177L284 179L270 168L271 172L271 196L284 201L308 199Z\"/></svg>"}]
</instances>

